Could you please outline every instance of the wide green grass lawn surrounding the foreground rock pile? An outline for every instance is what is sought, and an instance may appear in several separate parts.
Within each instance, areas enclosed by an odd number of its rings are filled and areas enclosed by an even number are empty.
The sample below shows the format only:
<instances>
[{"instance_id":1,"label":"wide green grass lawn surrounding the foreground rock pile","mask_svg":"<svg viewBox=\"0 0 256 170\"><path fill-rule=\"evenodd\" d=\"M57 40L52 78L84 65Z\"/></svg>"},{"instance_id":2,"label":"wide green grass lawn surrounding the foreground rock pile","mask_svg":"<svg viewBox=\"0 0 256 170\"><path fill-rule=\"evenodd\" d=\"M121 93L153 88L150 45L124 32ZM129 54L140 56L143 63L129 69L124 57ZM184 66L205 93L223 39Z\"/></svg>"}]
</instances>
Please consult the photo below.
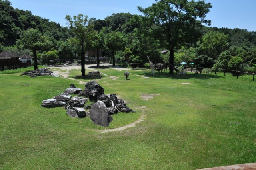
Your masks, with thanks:
<instances>
[{"instance_id":1,"label":"wide green grass lawn surrounding the foreground rock pile","mask_svg":"<svg viewBox=\"0 0 256 170\"><path fill-rule=\"evenodd\" d=\"M110 127L40 106L71 83L84 88L75 80L0 75L0 169L180 170L256 162L256 84L250 77L188 73L177 79L132 70L124 80L124 71L99 70L106 74L97 79L105 93L122 96L137 111L113 115ZM80 70L70 70L70 78L76 75ZM99 132L141 115L135 127Z\"/></svg>"}]
</instances>

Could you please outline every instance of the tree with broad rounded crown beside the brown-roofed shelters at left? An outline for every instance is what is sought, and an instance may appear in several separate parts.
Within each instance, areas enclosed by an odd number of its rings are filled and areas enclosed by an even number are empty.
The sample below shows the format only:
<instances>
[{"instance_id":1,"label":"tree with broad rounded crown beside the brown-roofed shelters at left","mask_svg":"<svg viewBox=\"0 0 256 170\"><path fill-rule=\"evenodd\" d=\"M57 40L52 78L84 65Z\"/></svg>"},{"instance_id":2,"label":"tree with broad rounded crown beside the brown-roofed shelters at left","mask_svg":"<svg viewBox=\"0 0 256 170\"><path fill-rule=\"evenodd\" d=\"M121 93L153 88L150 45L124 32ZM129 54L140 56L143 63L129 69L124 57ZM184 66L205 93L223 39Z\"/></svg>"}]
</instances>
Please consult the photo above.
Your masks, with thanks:
<instances>
[{"instance_id":1,"label":"tree with broad rounded crown beside the brown-roofed shelters at left","mask_svg":"<svg viewBox=\"0 0 256 170\"><path fill-rule=\"evenodd\" d=\"M53 44L47 37L43 36L40 31L36 29L29 29L22 33L20 39L17 41L17 45L23 49L30 49L33 51L34 70L36 70L38 68L36 51L50 49Z\"/></svg>"}]
</instances>

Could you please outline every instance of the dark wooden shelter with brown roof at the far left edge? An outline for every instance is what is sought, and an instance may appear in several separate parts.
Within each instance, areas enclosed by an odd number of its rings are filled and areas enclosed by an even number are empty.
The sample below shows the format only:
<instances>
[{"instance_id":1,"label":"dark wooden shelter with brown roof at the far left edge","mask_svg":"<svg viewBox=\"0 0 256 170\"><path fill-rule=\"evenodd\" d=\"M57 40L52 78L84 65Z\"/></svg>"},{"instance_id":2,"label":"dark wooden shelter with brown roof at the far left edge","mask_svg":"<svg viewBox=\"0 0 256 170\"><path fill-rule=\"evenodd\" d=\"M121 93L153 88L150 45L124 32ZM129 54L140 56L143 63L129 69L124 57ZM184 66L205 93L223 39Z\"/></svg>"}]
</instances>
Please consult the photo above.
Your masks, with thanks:
<instances>
[{"instance_id":1,"label":"dark wooden shelter with brown roof at the far left edge","mask_svg":"<svg viewBox=\"0 0 256 170\"><path fill-rule=\"evenodd\" d=\"M20 56L3 51L0 53L0 70L16 69L20 64Z\"/></svg>"}]
</instances>

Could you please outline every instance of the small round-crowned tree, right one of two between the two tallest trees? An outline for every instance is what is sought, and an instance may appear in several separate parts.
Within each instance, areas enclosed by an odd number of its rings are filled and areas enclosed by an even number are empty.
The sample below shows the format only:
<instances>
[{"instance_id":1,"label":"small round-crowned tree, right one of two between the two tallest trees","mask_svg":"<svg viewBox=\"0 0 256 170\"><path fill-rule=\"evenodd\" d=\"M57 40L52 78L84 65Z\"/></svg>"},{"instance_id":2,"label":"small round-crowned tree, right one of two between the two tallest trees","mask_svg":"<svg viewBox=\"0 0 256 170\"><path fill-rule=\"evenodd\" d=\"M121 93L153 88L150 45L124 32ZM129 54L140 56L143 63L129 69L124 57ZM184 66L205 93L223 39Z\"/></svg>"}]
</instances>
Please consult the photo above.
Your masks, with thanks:
<instances>
[{"instance_id":1,"label":"small round-crowned tree, right one of two between the two tallest trees","mask_svg":"<svg viewBox=\"0 0 256 170\"><path fill-rule=\"evenodd\" d=\"M125 47L123 35L120 32L111 31L105 35L104 41L107 49L112 51L113 66L115 66L115 52Z\"/></svg>"}]
</instances>

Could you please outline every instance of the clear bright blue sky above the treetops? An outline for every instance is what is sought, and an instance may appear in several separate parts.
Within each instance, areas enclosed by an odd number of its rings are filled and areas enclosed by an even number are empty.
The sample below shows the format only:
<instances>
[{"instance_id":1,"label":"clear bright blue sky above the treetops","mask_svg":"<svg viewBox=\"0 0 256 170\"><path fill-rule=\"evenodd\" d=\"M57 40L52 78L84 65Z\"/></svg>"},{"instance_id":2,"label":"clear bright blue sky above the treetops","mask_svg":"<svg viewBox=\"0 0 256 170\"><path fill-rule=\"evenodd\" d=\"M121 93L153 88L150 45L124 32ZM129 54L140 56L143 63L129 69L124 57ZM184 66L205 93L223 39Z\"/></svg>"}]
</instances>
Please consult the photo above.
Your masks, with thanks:
<instances>
[{"instance_id":1,"label":"clear bright blue sky above the treetops","mask_svg":"<svg viewBox=\"0 0 256 170\"><path fill-rule=\"evenodd\" d=\"M146 8L154 0L9 0L14 8L66 25L65 16L79 13L88 18L104 19L113 13L140 14L137 6ZM241 28L256 31L256 0L205 0L213 5L206 18L211 27Z\"/></svg>"}]
</instances>

